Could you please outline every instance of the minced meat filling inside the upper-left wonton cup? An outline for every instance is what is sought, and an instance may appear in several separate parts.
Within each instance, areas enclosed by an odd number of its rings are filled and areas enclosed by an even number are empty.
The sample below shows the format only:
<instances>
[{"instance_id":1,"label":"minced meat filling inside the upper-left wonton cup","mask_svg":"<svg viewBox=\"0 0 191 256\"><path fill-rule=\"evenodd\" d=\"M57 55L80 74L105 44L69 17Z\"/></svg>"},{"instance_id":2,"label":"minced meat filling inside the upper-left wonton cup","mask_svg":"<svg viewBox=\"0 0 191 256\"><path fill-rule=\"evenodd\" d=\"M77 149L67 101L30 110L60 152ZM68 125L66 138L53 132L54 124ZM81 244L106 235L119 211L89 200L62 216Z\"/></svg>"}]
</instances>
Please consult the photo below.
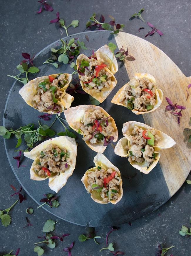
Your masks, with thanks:
<instances>
[{"instance_id":1,"label":"minced meat filling inside the upper-left wonton cup","mask_svg":"<svg viewBox=\"0 0 191 256\"><path fill-rule=\"evenodd\" d=\"M63 92L60 90L68 82L65 74L57 75L52 83L49 79L43 79L38 83L37 94L33 97L32 106L40 112L49 110L50 106L55 105L60 100ZM52 107L52 108L53 108Z\"/></svg>"}]
</instances>

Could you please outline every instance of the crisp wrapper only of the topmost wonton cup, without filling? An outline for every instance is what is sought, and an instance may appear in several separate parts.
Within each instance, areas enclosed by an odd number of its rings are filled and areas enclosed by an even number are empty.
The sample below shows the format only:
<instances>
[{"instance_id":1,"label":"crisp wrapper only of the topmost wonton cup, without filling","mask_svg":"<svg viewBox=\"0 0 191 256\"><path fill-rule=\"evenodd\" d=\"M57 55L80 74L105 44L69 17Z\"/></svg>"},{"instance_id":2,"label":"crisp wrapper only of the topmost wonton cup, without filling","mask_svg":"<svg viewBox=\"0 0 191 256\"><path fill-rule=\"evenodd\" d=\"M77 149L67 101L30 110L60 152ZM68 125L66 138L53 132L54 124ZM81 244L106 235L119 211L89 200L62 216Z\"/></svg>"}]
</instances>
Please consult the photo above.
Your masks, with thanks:
<instances>
[{"instance_id":1,"label":"crisp wrapper only of the topmost wonton cup, without filling","mask_svg":"<svg viewBox=\"0 0 191 256\"><path fill-rule=\"evenodd\" d=\"M103 46L105 47L105 46ZM102 47L101 47L102 48ZM101 49L100 48L100 49ZM97 56L101 56L101 53L102 50L98 49L96 52L97 52ZM107 49L107 48L106 48ZM110 50L109 50L110 51ZM112 52L111 52L112 53ZM113 53L112 53L113 54ZM110 58L108 57L108 59L106 59L107 57L107 52L102 54L105 56L105 62L108 63L108 61L110 60ZM103 56L103 57L104 57ZM80 65L81 61L82 60L86 60L86 61L90 61L90 59L88 59L88 57L84 54L80 54L76 60L76 65L77 67ZM99 57L98 57L98 60L99 60ZM115 59L116 60L116 59ZM117 62L117 61L116 61ZM114 65L111 61L109 62L110 63L110 68L112 68L111 70L115 73L117 72L118 70L118 66ZM114 66L115 66L115 70L114 71ZM82 86L82 89L87 92L88 94L90 94L94 99L98 100L100 103L103 102L107 97L108 95L110 94L110 92L113 90L113 88L115 87L115 85L117 84L117 80L115 78L115 76L113 75L112 71L110 71L108 68L104 67L105 69L105 72L108 71L108 73L110 73L112 75L111 77L111 81L112 81L112 84L110 85L110 88L106 88L106 87L103 87L103 89L101 90L101 92L96 92L96 89L87 89L87 87L84 85L84 82L80 80L80 84ZM81 75L78 74L79 76L79 79L81 78Z\"/></svg>"}]
</instances>

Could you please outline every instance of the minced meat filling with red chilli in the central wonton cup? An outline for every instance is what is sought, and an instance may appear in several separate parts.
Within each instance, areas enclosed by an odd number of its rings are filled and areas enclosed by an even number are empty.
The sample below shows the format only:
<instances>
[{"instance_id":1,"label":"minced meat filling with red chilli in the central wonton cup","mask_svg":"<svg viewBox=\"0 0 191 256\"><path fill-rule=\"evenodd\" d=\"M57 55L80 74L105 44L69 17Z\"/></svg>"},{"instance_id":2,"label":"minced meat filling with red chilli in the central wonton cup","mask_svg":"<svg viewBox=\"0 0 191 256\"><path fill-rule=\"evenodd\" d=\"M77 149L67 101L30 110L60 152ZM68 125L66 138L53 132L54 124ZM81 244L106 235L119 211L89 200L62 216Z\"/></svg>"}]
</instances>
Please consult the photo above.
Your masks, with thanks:
<instances>
[{"instance_id":1,"label":"minced meat filling with red chilli in the central wonton cup","mask_svg":"<svg viewBox=\"0 0 191 256\"><path fill-rule=\"evenodd\" d=\"M97 142L108 141L114 131L110 118L107 117L100 109L92 112L85 112L84 123L75 122L75 129L81 130L84 133L84 141L90 141L91 144Z\"/></svg>"}]
</instances>

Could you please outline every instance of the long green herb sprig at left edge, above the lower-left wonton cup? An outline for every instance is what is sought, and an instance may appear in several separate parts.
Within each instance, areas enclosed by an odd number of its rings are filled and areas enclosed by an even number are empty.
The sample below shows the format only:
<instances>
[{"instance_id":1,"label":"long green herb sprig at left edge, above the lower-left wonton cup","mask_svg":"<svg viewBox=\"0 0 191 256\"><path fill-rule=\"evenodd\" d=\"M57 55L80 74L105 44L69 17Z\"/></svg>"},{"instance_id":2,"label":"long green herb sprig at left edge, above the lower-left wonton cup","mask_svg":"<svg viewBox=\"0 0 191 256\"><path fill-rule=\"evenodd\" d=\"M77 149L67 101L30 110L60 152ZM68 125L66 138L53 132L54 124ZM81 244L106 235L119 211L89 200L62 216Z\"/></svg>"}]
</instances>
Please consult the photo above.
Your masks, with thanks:
<instances>
[{"instance_id":1,"label":"long green herb sprig at left edge, above the lower-left wonton cup","mask_svg":"<svg viewBox=\"0 0 191 256\"><path fill-rule=\"evenodd\" d=\"M56 119L53 121L53 123L55 121ZM22 142L21 136L24 134L24 140L27 143L27 146L29 148L33 148L33 145L36 142L41 141L43 137L54 136L56 134L53 130L50 129L53 123L50 126L48 126L42 125L38 121L39 127L36 129L33 123L29 123L28 125L20 126L15 131L12 128L10 130L7 130L4 126L0 126L0 136L3 136L5 139L9 139L11 134L14 134L15 137L18 139L16 147L19 147ZM19 157L20 156L21 154L19 155ZM20 159L18 158L18 160Z\"/></svg>"}]
</instances>

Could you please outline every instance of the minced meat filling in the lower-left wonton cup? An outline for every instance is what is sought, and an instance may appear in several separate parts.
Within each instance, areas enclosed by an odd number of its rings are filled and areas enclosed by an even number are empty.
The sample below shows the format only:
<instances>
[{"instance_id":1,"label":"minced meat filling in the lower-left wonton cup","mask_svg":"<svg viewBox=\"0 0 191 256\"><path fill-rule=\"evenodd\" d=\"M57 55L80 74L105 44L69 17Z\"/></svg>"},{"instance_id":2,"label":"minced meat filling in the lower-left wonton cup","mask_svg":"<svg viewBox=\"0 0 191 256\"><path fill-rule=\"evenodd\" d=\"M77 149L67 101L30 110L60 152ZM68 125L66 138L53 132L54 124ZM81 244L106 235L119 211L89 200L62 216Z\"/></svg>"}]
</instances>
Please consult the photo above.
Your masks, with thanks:
<instances>
[{"instance_id":1,"label":"minced meat filling in the lower-left wonton cup","mask_svg":"<svg viewBox=\"0 0 191 256\"><path fill-rule=\"evenodd\" d=\"M71 159L66 149L60 149L54 144L49 144L38 156L39 162L34 166L38 176L47 177L51 173L64 172L68 169Z\"/></svg>"}]
</instances>

